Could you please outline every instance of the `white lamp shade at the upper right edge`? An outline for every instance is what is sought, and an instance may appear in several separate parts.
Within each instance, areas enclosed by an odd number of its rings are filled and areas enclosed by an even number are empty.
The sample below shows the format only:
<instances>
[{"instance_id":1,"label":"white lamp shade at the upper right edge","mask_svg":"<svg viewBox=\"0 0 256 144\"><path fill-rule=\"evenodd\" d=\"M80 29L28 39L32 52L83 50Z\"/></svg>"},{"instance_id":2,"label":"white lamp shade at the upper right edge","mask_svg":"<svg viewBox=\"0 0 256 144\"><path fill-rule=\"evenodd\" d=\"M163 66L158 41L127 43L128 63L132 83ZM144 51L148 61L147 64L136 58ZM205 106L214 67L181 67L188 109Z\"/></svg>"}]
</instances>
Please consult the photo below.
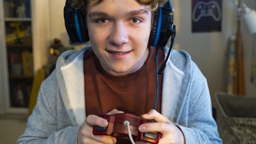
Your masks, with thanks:
<instances>
[{"instance_id":1,"label":"white lamp shade at the upper right edge","mask_svg":"<svg viewBox=\"0 0 256 144\"><path fill-rule=\"evenodd\" d=\"M244 22L250 34L256 33L256 11L244 4Z\"/></svg>"}]
</instances>

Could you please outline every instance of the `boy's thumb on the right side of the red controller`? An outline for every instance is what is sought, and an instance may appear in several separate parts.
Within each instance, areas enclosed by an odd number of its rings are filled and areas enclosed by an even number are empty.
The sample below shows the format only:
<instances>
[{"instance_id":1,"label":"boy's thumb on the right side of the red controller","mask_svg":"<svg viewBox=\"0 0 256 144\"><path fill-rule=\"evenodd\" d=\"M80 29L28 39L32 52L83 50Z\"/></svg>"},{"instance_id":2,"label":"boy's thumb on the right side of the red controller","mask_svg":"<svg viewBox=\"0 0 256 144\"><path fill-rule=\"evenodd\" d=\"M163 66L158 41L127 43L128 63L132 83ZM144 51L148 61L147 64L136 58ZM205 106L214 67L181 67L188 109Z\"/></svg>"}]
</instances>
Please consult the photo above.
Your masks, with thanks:
<instances>
[{"instance_id":1,"label":"boy's thumb on the right side of the red controller","mask_svg":"<svg viewBox=\"0 0 256 144\"><path fill-rule=\"evenodd\" d=\"M148 113L145 113L145 114L141 115L141 118L145 118L147 120L154 120L156 122L165 122L165 123L170 122L170 120L168 120L168 118L161 115L161 113L158 113L154 109L151 109Z\"/></svg>"}]
</instances>

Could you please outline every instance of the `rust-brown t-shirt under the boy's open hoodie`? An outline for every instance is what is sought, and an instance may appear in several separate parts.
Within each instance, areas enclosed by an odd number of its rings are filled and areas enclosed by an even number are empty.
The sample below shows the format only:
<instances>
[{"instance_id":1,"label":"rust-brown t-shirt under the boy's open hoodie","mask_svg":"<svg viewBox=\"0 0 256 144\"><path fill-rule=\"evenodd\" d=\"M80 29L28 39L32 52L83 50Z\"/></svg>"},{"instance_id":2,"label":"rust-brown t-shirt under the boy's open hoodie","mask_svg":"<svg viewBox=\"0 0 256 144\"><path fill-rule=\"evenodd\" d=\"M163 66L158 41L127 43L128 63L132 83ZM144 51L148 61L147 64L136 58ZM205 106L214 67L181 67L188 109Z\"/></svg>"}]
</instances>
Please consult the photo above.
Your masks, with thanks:
<instances>
[{"instance_id":1,"label":"rust-brown t-shirt under the boy's open hoodie","mask_svg":"<svg viewBox=\"0 0 256 144\"><path fill-rule=\"evenodd\" d=\"M118 109L142 115L154 109L156 100L156 49L149 48L148 59L140 70L125 76L113 76L100 65L92 50L84 52L84 92L86 115L99 115ZM164 51L159 50L159 67ZM159 68L158 68L159 69ZM159 76L157 111L161 111L162 81Z\"/></svg>"}]
</instances>

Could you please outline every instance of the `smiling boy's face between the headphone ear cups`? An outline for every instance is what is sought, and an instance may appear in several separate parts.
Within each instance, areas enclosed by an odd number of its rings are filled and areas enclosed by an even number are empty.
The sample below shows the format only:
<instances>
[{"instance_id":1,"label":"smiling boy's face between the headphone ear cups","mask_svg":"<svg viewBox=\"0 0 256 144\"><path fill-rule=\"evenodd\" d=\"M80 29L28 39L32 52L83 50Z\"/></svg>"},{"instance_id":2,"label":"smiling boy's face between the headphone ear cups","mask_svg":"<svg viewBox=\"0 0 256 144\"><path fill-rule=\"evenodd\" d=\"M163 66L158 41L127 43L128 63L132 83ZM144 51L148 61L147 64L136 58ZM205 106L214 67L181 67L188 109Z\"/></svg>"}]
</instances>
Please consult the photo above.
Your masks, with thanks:
<instances>
[{"instance_id":1,"label":"smiling boy's face between the headphone ear cups","mask_svg":"<svg viewBox=\"0 0 256 144\"><path fill-rule=\"evenodd\" d=\"M110 74L122 76L140 69L148 56L150 6L135 0L89 3L87 26L92 49Z\"/></svg>"}]
</instances>

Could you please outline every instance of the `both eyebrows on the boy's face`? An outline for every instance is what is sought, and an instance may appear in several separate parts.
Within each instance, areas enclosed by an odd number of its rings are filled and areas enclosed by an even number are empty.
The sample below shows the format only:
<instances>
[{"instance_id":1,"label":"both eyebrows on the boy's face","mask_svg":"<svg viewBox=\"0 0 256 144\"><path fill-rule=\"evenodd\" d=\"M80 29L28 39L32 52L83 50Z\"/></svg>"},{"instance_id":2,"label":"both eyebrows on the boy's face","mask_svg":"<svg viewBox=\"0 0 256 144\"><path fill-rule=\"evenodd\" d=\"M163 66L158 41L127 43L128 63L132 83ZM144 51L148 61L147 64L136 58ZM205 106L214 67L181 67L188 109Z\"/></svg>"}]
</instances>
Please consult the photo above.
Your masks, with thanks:
<instances>
[{"instance_id":1,"label":"both eyebrows on the boy's face","mask_svg":"<svg viewBox=\"0 0 256 144\"><path fill-rule=\"evenodd\" d=\"M134 15L138 15L140 13L145 13L146 15L148 15L150 10L145 10L145 9L141 9L141 10L132 10L131 12L129 12L128 15L134 16ZM89 17L110 17L108 13L105 12L92 12L88 14Z\"/></svg>"}]
</instances>

